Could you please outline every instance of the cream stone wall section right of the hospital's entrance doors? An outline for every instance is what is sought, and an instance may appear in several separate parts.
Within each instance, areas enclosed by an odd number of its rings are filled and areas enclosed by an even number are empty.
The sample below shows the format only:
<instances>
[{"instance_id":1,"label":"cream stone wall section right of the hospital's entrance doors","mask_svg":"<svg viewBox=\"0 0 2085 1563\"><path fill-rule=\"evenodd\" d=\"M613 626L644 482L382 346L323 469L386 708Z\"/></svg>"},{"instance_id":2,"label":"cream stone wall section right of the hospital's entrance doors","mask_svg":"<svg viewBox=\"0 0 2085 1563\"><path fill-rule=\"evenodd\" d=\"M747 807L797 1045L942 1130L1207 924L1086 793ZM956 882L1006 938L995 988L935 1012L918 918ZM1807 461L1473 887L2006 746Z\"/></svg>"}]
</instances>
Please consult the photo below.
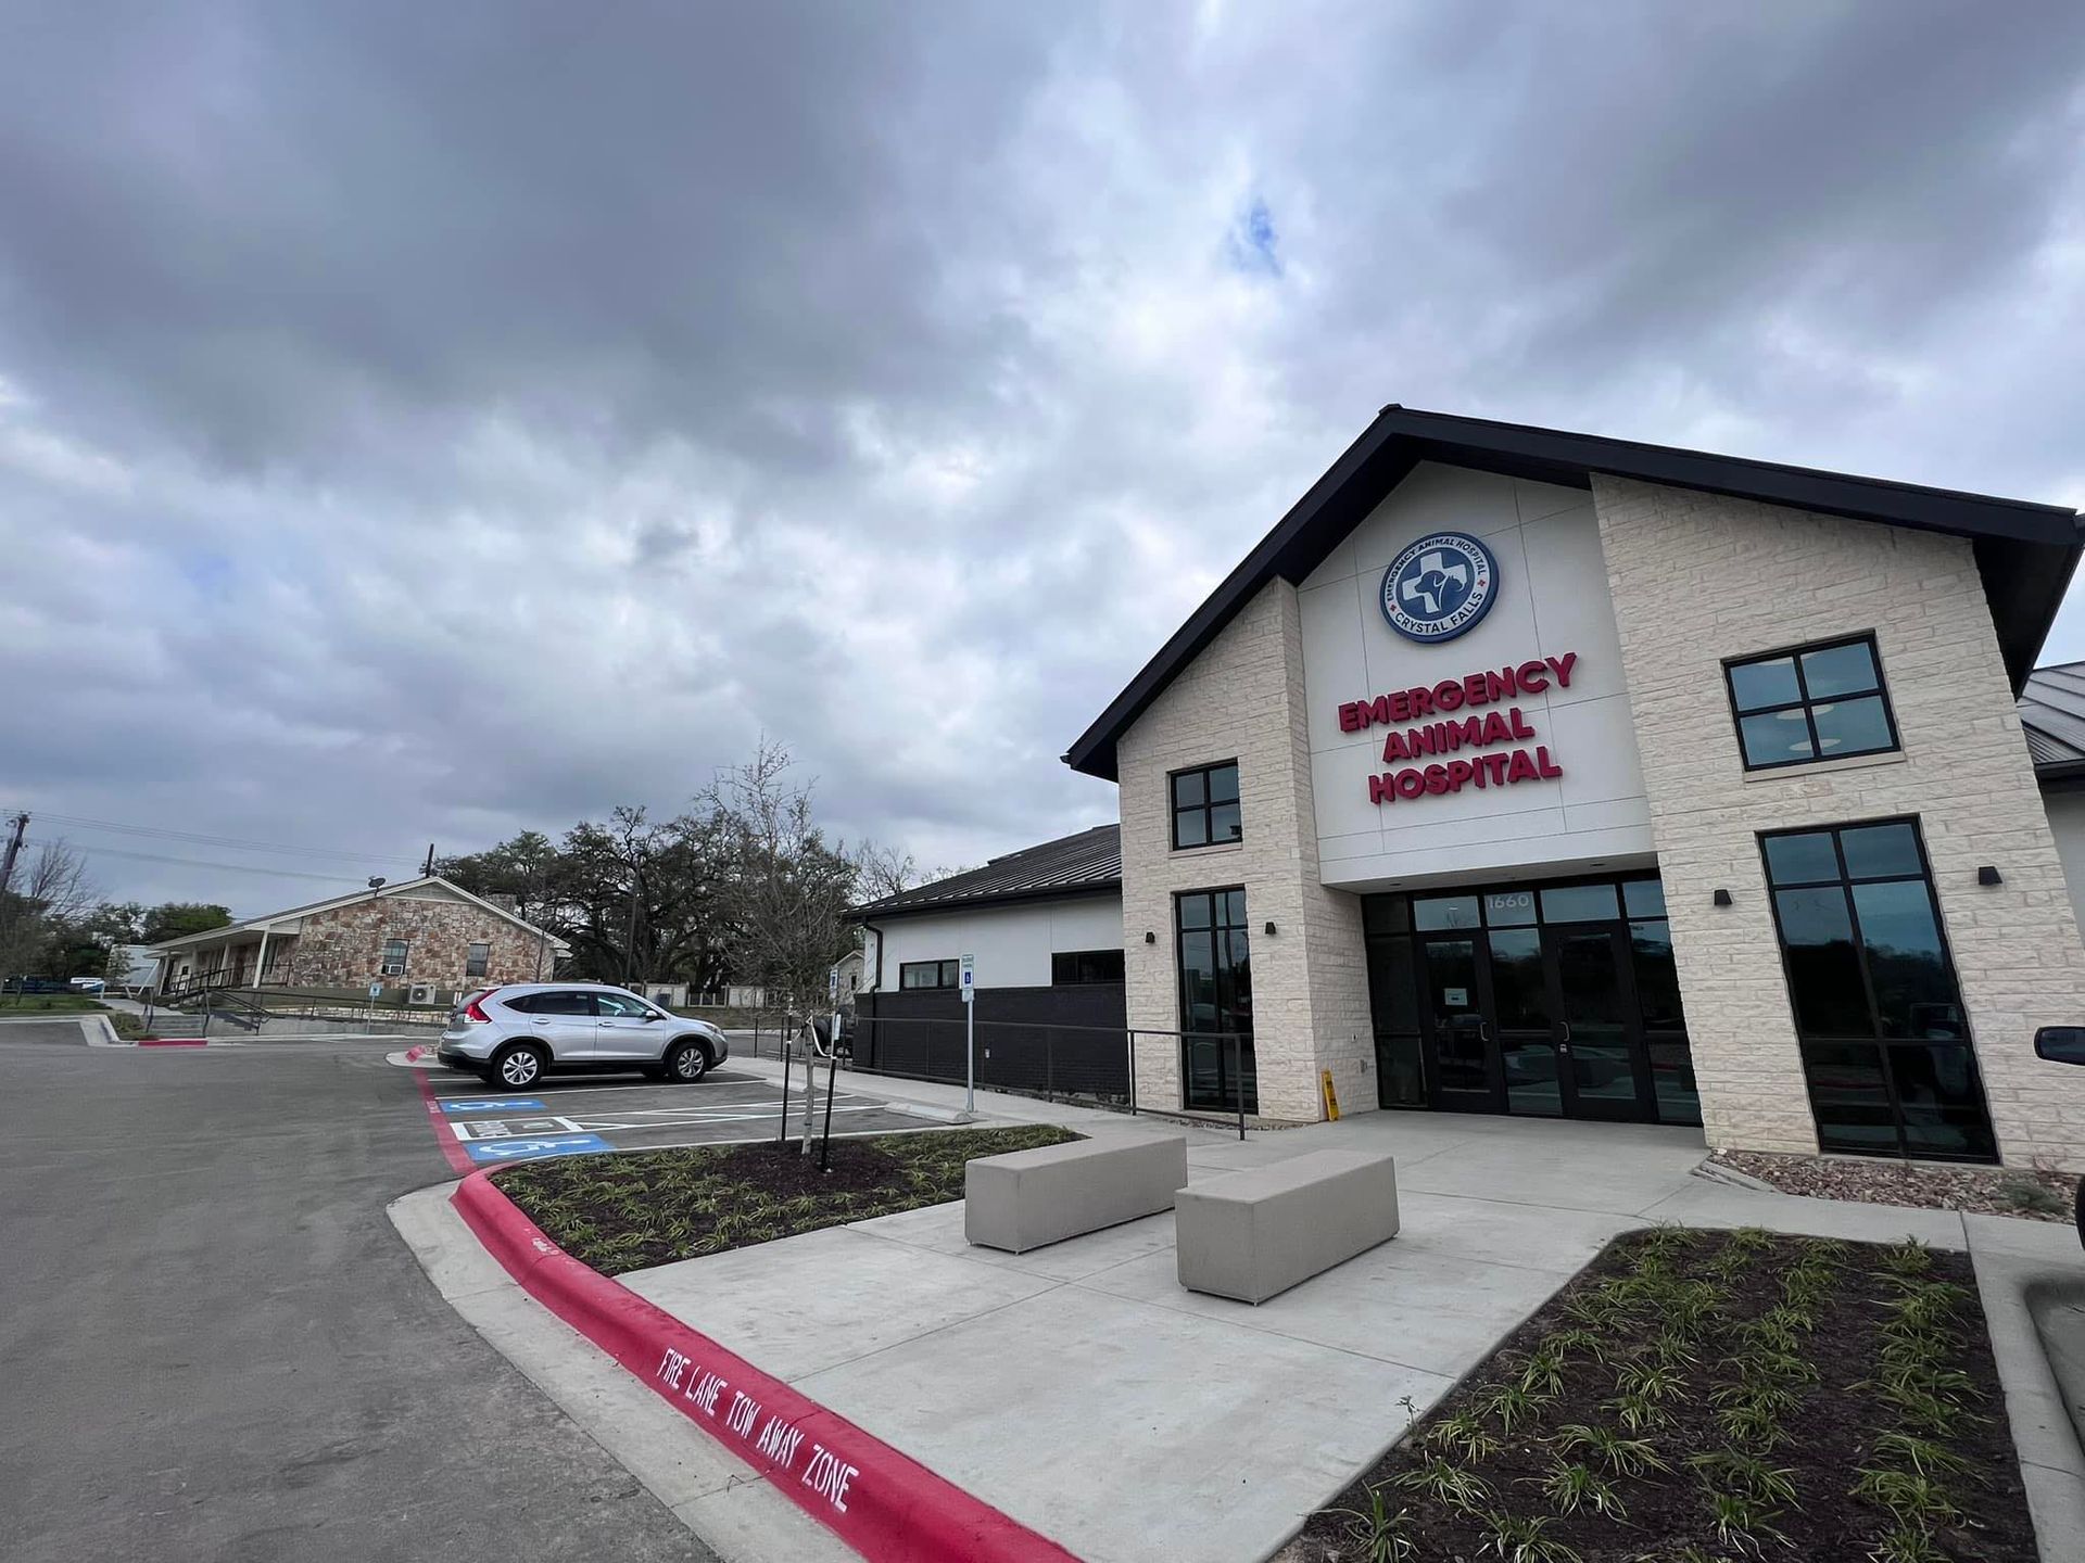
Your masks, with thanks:
<instances>
[{"instance_id":1,"label":"cream stone wall section right of the hospital's entrance doors","mask_svg":"<svg viewBox=\"0 0 2085 1563\"><path fill-rule=\"evenodd\" d=\"M1816 1150L1758 832L1916 815L2000 1152L2085 1169L2085 946L1962 538L1593 479L1714 1146ZM1874 631L1899 754L1743 769L1722 661ZM1979 886L1993 865L2002 886ZM1733 904L1714 907L1716 890Z\"/></svg>"}]
</instances>

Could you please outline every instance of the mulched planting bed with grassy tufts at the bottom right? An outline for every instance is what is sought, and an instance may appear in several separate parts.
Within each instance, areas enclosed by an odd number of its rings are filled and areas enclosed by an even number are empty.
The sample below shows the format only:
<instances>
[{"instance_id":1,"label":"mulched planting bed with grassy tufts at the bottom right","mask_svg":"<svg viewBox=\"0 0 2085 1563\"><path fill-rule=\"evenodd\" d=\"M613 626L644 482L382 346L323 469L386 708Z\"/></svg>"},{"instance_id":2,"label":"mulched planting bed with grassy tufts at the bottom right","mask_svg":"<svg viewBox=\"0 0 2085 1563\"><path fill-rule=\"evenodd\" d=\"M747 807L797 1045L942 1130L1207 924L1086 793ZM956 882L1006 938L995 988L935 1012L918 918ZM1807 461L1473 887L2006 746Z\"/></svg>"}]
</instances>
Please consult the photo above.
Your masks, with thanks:
<instances>
[{"instance_id":1,"label":"mulched planting bed with grassy tufts at the bottom right","mask_svg":"<svg viewBox=\"0 0 2085 1563\"><path fill-rule=\"evenodd\" d=\"M2033 1563L1968 1259L1618 1238L1284 1563Z\"/></svg>"}]
</instances>

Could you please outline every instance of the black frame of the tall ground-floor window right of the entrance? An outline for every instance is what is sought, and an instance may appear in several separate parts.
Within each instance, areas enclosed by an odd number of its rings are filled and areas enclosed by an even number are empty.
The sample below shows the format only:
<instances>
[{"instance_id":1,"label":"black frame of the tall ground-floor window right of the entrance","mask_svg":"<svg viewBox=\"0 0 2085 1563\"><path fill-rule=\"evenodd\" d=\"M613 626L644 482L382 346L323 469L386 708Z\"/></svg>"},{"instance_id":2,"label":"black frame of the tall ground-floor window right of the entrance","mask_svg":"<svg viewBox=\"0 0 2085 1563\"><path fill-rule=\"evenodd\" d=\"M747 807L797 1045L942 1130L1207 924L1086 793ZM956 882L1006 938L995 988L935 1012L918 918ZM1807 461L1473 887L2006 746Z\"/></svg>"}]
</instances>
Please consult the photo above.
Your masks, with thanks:
<instances>
[{"instance_id":1,"label":"black frame of the tall ground-floor window right of the entrance","mask_svg":"<svg viewBox=\"0 0 2085 1563\"><path fill-rule=\"evenodd\" d=\"M1874 827L1874 825L1908 825L1910 827L1910 832L1912 832L1912 844L1918 848L1918 873L1916 875L1912 875L1912 873L1862 873L1862 875L1856 875L1851 871L1851 865L1845 861L1845 840L1843 840L1843 836L1845 836L1845 832L1868 829L1868 827ZM1789 879L1787 884L1776 884L1774 882L1772 861L1766 854L1766 844L1770 840L1779 840L1779 838L1787 838L1787 836L1826 836L1826 838L1831 838L1831 850L1833 850L1833 863L1837 865L1837 877L1833 877L1833 879L1801 877L1801 879ZM1818 1044L1818 1046L1822 1046L1822 1048L1845 1048L1845 1046L1870 1046L1870 1048L1876 1048L1876 1061L1881 1065L1881 1071L1883 1071L1883 1084L1889 1090L1891 1113L1895 1115L1895 1134L1897 1134L1895 1157L1910 1159L1910 1161L1958 1161L1958 1163L1968 1163L1968 1165L1995 1165L2000 1161L2000 1148L1997 1148L1997 1125L1991 1119L1991 1094L1989 1094L1989 1090L1983 1084L1983 1057L1981 1057L1981 1052L1977 1048L1977 1034L1974 1034L1974 1027L1970 1025L1970 1019L1968 1019L1968 1002L1962 998L1962 973L1956 969L1954 940L1947 938L1947 915L1945 915L1945 909L1941 907L1939 882L1933 877L1933 854L1927 850L1927 834L1924 834L1924 829L1920 825L1918 815L1879 815L1879 817L1872 817L1872 819L1843 819L1843 821L1822 821L1822 823L1816 823L1816 825L1787 825L1787 827L1756 832L1756 840L1760 844L1760 873L1762 873L1762 877L1766 882L1766 909L1768 909L1768 915L1774 919L1774 942L1781 946L1781 979L1783 979L1785 990L1789 994L1789 1021L1791 1021L1791 1025L1795 1029L1795 1048L1797 1048L1797 1055L1804 1055L1806 1044L1812 1044L1812 1042ZM1862 886L1862 884L1924 884L1927 896L1933 902L1933 932L1939 938L1941 967L1947 973L1947 982L1954 984L1956 1009L1962 1015L1962 1021L1960 1021L1962 1023L1962 1036L1960 1038L1922 1038L1922 1036L1885 1036L1883 1034L1883 1007L1881 1007L1881 1002L1876 998L1876 990L1874 990L1874 971L1872 971L1870 961L1868 961L1866 929L1862 929L1862 925L1860 925L1860 900L1858 900L1858 896L1854 896L1854 886ZM1781 898L1779 898L1779 892L1783 892L1783 890L1820 890L1820 888L1837 888L1837 890L1845 892L1845 915L1847 915L1847 927L1851 929L1854 963L1860 969L1860 994L1862 994L1862 1004L1868 1011L1868 1029L1866 1029L1866 1034L1862 1034L1862 1032L1837 1032L1837 1029L1810 1034L1810 1032L1804 1029L1801 1007L1799 1007L1797 994L1795 994L1795 969L1789 963L1789 936L1787 936L1787 929L1781 923ZM1910 1144L1906 1140L1904 1113L1902 1113L1902 1107L1899 1107L1902 1098L1899 1098L1899 1092L1897 1092L1895 1059L1891 1057L1891 1052L1893 1050L1906 1050L1906 1052L1910 1052L1914 1048L1935 1048L1935 1046L1958 1046L1958 1048L1962 1048L1968 1055L1968 1063L1970 1063L1970 1067L1974 1069L1974 1075L1977 1075L1977 1096L1979 1096L1979 1102L1983 1107L1983 1121L1985 1121L1985 1132L1987 1132L1989 1142L1991 1142L1991 1155L1945 1155L1945 1152L1939 1152L1939 1150L1935 1150L1931 1146L1920 1146L1918 1150L1910 1148ZM1808 1063L1806 1055L1804 1055L1804 1082L1806 1082L1806 1086L1810 1082L1810 1063ZM1812 1111L1812 1123L1818 1130L1818 1144L1820 1144L1820 1148L1826 1150L1826 1155L1876 1155L1872 1150L1858 1150L1858 1148L1851 1148L1851 1146L1826 1146L1824 1144L1824 1140L1826 1140L1826 1127L1816 1117L1816 1102L1814 1100L1810 1105L1810 1111Z\"/></svg>"}]
</instances>

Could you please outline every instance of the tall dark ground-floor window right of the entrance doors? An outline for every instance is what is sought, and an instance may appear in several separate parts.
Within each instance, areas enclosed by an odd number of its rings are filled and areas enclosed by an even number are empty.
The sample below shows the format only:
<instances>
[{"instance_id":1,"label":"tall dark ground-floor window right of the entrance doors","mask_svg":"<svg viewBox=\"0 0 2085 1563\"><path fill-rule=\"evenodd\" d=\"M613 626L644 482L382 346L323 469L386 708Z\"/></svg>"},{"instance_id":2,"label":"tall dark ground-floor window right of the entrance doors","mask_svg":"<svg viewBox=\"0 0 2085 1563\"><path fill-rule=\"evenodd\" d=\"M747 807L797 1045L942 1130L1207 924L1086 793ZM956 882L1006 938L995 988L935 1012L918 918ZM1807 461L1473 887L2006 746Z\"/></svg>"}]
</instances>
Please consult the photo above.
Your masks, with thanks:
<instances>
[{"instance_id":1,"label":"tall dark ground-floor window right of the entrance doors","mask_svg":"<svg viewBox=\"0 0 2085 1563\"><path fill-rule=\"evenodd\" d=\"M1760 850L1818 1142L1995 1161L1916 821L1776 832Z\"/></svg>"}]
</instances>

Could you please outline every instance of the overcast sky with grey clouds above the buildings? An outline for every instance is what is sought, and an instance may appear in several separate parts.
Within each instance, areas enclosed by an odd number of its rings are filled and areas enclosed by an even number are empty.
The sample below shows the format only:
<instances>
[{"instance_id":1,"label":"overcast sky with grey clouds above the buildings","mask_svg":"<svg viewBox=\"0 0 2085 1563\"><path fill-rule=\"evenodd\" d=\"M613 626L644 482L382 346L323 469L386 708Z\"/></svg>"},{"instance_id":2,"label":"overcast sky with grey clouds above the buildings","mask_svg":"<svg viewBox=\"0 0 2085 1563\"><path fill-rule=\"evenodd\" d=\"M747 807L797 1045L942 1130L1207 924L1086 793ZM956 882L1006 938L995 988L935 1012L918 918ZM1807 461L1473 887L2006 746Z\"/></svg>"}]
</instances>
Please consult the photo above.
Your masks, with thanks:
<instances>
[{"instance_id":1,"label":"overcast sky with grey clouds above the buildings","mask_svg":"<svg viewBox=\"0 0 2085 1563\"><path fill-rule=\"evenodd\" d=\"M763 731L1113 819L1382 402L2085 504L2081 133L2070 2L8 0L0 804L250 913Z\"/></svg>"}]
</instances>

